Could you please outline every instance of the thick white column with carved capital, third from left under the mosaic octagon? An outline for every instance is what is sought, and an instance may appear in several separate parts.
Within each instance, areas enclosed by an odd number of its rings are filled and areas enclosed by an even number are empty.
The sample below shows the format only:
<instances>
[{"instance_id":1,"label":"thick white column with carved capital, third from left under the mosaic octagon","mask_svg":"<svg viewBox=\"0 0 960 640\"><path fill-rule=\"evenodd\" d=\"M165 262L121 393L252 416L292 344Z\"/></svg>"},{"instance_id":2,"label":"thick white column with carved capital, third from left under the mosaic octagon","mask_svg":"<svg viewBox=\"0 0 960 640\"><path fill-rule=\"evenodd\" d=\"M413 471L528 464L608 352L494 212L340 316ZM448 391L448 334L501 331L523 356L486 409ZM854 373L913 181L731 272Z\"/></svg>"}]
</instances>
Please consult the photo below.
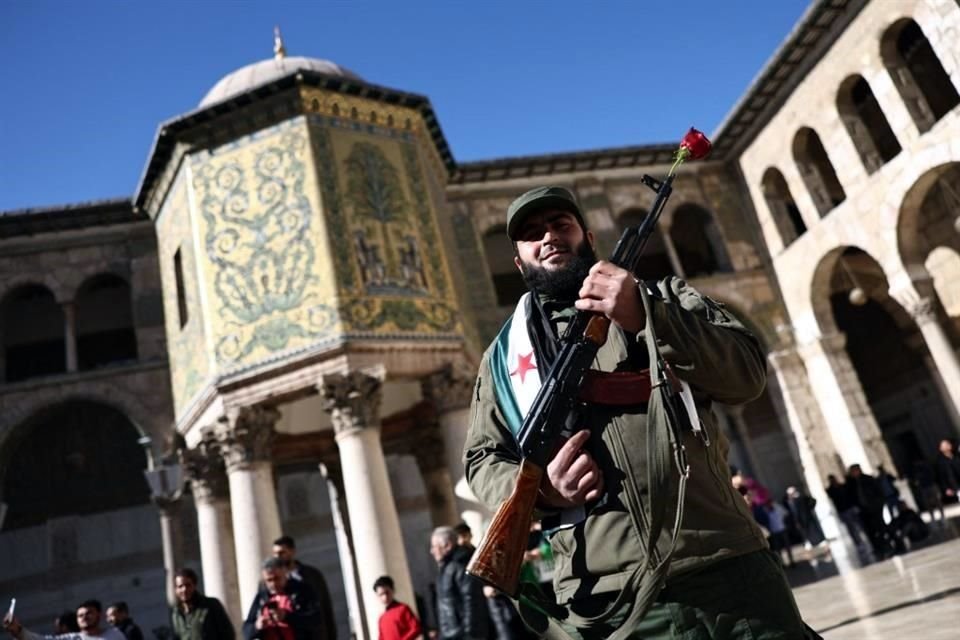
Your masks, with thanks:
<instances>
[{"instance_id":1,"label":"thick white column with carved capital, third from left under the mosaic octagon","mask_svg":"<svg viewBox=\"0 0 960 640\"><path fill-rule=\"evenodd\" d=\"M397 599L415 602L400 517L380 444L380 401L385 373L380 367L366 373L329 374L322 377L319 385L324 410L333 419L340 450L354 549L363 559L357 568L370 630L378 628L383 609L373 592L373 583L378 577L391 576Z\"/></svg>"}]
</instances>

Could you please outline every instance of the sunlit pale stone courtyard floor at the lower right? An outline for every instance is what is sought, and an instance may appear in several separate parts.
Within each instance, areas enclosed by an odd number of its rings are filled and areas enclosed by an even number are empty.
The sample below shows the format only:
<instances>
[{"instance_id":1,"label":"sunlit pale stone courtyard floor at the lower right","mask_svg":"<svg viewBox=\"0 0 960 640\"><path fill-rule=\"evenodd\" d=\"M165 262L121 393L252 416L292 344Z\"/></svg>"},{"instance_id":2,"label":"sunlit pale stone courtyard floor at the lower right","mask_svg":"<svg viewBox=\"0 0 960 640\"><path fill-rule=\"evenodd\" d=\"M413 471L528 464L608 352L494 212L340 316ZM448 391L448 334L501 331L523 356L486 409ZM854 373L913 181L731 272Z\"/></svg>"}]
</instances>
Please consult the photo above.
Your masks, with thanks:
<instances>
[{"instance_id":1,"label":"sunlit pale stone courtyard floor at the lower right","mask_svg":"<svg viewBox=\"0 0 960 640\"><path fill-rule=\"evenodd\" d=\"M922 546L844 575L797 548L788 577L804 620L826 640L960 639L960 506L947 517Z\"/></svg>"}]
</instances>

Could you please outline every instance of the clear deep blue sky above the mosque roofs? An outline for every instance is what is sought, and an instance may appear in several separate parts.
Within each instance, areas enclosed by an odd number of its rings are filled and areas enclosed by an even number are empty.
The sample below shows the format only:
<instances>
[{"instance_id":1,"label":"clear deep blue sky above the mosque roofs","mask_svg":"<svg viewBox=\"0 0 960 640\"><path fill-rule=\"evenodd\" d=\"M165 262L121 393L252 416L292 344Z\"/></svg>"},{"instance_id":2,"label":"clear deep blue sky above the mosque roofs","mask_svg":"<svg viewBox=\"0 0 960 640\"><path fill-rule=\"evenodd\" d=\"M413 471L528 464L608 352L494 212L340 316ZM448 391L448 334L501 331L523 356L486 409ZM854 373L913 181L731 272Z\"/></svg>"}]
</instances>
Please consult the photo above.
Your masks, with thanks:
<instances>
[{"instance_id":1,"label":"clear deep blue sky above the mosque roofs","mask_svg":"<svg viewBox=\"0 0 960 640\"><path fill-rule=\"evenodd\" d=\"M458 161L712 132L807 0L0 0L0 211L133 195L157 125L272 55L428 96Z\"/></svg>"}]
</instances>

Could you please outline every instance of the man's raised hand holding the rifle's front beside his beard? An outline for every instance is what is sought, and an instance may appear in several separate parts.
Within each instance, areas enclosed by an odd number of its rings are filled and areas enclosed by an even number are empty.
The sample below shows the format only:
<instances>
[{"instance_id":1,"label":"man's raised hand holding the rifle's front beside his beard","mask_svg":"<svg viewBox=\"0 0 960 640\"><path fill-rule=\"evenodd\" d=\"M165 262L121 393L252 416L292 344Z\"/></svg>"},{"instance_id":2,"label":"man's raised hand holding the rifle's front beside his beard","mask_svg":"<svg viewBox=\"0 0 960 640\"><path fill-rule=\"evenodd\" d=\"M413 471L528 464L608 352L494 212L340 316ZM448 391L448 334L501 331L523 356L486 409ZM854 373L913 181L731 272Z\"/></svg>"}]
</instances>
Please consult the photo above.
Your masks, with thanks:
<instances>
[{"instance_id":1,"label":"man's raised hand holding the rifle's front beside his beard","mask_svg":"<svg viewBox=\"0 0 960 640\"><path fill-rule=\"evenodd\" d=\"M646 324L636 278L611 262L600 261L590 268L574 304L581 311L602 313L630 333L638 333Z\"/></svg>"}]
</instances>

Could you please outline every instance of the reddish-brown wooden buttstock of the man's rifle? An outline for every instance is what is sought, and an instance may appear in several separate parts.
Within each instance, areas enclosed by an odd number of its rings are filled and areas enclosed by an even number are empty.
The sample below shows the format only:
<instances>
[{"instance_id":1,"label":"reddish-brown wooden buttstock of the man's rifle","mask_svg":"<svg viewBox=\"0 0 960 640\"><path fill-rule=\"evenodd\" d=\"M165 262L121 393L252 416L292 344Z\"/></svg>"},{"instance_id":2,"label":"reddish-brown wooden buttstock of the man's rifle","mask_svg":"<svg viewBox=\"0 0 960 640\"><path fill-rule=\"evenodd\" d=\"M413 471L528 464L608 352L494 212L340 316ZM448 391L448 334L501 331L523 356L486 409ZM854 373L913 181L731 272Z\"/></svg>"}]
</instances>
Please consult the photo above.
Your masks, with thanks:
<instances>
[{"instance_id":1,"label":"reddish-brown wooden buttstock of the man's rifle","mask_svg":"<svg viewBox=\"0 0 960 640\"><path fill-rule=\"evenodd\" d=\"M520 463L513 493L497 509L483 542L467 565L467 573L514 598L542 479L541 467L530 460Z\"/></svg>"}]
</instances>

